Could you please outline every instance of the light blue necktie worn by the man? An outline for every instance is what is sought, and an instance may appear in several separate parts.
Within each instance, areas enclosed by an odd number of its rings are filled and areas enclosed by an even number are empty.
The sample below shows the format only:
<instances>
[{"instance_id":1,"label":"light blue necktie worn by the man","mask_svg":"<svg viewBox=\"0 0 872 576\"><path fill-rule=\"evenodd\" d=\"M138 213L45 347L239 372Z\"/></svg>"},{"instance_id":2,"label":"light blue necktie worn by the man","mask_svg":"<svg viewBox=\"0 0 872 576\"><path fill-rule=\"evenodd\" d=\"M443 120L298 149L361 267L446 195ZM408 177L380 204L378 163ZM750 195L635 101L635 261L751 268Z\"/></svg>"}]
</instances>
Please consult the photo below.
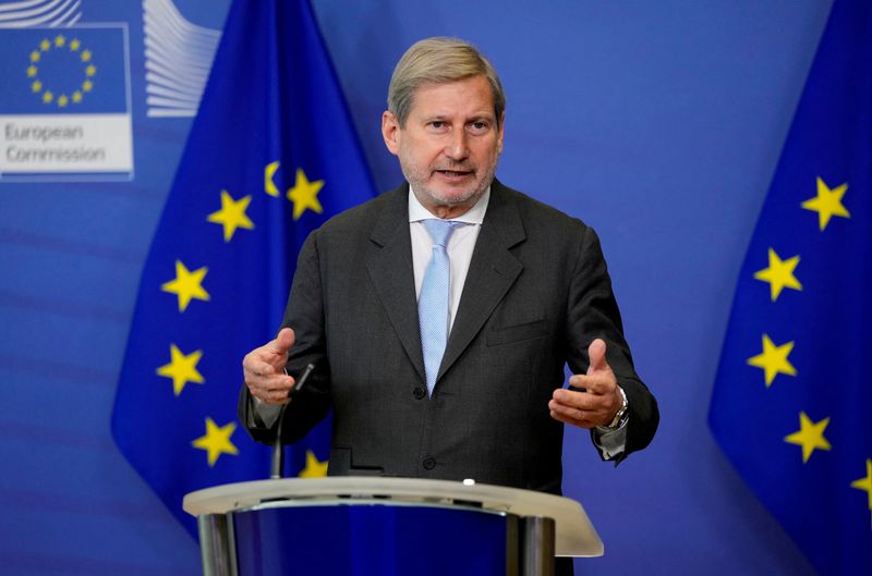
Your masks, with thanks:
<instances>
[{"instance_id":1,"label":"light blue necktie worn by the man","mask_svg":"<svg viewBox=\"0 0 872 576\"><path fill-rule=\"evenodd\" d=\"M436 385L436 376L445 354L448 342L448 320L451 316L449 297L451 290L451 271L448 260L448 238L460 222L429 219L424 220L433 238L433 255L427 270L424 272L424 282L421 284L421 295L417 298L417 320L421 326L421 347L424 353L424 373L427 377L427 395L433 395Z\"/></svg>"}]
</instances>

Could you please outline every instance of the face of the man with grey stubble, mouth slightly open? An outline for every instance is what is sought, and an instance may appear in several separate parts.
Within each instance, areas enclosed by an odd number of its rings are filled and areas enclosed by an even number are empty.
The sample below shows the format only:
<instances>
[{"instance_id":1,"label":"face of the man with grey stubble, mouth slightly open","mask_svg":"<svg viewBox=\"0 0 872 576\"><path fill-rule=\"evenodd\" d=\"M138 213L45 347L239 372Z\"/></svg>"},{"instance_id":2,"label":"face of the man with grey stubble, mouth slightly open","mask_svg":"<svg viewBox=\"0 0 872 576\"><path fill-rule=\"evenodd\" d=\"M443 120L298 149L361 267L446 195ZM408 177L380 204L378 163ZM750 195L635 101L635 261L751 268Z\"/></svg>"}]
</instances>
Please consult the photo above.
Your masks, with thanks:
<instances>
[{"instance_id":1,"label":"face of the man with grey stubble, mouth slightly open","mask_svg":"<svg viewBox=\"0 0 872 576\"><path fill-rule=\"evenodd\" d=\"M502 120L485 76L419 87L400 127L391 112L382 134L419 201L441 217L472 208L491 185L502 150Z\"/></svg>"}]
</instances>

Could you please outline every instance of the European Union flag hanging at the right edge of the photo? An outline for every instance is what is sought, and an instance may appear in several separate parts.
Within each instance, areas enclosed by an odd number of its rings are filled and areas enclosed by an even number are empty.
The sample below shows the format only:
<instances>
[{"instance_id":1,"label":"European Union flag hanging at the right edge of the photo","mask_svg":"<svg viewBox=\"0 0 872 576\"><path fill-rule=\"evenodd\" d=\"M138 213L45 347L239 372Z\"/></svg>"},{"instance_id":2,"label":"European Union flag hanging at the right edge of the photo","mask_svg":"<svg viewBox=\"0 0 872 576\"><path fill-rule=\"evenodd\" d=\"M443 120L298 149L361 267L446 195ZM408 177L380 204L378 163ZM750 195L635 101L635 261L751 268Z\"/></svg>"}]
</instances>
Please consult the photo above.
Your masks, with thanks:
<instances>
[{"instance_id":1,"label":"European Union flag hanging at the right edge of the photo","mask_svg":"<svg viewBox=\"0 0 872 576\"><path fill-rule=\"evenodd\" d=\"M833 5L741 269L710 424L821 574L872 574L872 3Z\"/></svg>"}]
</instances>

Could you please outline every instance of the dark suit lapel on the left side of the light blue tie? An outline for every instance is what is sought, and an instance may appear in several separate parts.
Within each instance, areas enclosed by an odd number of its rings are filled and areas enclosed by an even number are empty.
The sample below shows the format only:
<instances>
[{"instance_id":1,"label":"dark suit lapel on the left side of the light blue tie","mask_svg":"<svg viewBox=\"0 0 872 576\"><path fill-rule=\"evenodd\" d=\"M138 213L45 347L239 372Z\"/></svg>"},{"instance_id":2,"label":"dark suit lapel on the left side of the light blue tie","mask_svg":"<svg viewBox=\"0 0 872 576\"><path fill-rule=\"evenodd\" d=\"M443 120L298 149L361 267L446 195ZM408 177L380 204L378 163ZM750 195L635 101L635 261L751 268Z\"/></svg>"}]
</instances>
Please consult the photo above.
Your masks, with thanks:
<instances>
[{"instance_id":1,"label":"dark suit lapel on the left side of the light blue tie","mask_svg":"<svg viewBox=\"0 0 872 576\"><path fill-rule=\"evenodd\" d=\"M385 209L380 211L370 235L372 245L366 257L366 269L388 320L424 382L424 358L421 353L412 269L412 240L409 234L408 193L409 185L405 184L385 195Z\"/></svg>"}]
</instances>

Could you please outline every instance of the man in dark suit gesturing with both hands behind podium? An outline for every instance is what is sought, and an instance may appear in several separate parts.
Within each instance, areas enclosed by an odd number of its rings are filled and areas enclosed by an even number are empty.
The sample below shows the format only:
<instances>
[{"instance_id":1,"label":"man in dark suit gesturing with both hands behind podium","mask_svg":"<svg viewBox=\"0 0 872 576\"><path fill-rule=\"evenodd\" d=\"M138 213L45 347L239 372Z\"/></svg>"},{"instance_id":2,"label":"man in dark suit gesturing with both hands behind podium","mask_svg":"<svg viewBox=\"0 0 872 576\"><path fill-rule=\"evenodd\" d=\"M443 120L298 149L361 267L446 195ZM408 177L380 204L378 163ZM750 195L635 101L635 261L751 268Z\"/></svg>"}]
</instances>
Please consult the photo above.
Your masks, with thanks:
<instances>
[{"instance_id":1,"label":"man in dark suit gesturing with both hands behind podium","mask_svg":"<svg viewBox=\"0 0 872 576\"><path fill-rule=\"evenodd\" d=\"M272 441L314 363L280 433L293 442L332 408L330 475L560 493L564 424L591 429L604 459L649 444L657 405L596 234L494 177L505 102L467 42L402 57L382 134L408 183L307 238L284 328L243 361L240 418L256 440Z\"/></svg>"}]
</instances>

